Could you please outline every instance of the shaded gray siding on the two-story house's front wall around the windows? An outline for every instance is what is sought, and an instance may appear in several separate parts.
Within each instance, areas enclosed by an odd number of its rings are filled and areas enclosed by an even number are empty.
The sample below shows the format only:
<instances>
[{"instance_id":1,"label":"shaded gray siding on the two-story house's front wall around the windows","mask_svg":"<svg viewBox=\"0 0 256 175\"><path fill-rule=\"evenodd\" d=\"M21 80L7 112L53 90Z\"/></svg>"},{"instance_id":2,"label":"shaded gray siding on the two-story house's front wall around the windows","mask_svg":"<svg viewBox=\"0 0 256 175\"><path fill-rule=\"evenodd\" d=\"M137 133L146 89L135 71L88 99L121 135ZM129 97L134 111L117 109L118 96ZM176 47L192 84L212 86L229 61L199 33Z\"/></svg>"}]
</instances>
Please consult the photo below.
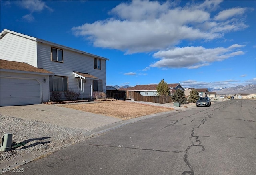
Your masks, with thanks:
<instances>
[{"instance_id":1,"label":"shaded gray siding on the two-story house's front wall around the windows","mask_svg":"<svg viewBox=\"0 0 256 175\"><path fill-rule=\"evenodd\" d=\"M38 43L38 67L54 72L55 75L68 77L69 90L77 90L77 78L73 71L89 73L102 80L103 92L106 93L106 60L101 59L101 69L94 69L94 57L63 49L63 63L51 60L51 45ZM62 49L62 48L58 48ZM84 98L90 98L91 81L84 83ZM63 95L64 96L64 95Z\"/></svg>"}]
</instances>

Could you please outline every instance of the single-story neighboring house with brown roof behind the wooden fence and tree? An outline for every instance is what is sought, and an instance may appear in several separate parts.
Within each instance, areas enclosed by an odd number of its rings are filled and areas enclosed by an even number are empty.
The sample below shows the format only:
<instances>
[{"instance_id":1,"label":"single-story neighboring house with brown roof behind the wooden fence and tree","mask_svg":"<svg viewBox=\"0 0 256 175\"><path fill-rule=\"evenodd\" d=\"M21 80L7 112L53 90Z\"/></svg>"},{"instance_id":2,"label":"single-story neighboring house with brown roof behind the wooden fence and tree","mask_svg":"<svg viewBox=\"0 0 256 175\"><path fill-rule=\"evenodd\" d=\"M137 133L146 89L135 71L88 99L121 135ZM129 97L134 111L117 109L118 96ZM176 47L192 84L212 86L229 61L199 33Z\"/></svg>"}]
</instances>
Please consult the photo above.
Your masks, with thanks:
<instances>
[{"instance_id":1,"label":"single-story neighboring house with brown roof behind the wooden fence and tree","mask_svg":"<svg viewBox=\"0 0 256 175\"><path fill-rule=\"evenodd\" d=\"M136 86L131 87L131 88L121 88L121 89L118 89L118 90L121 90L121 91L135 91L135 92L140 93L143 96L157 96L156 86L157 86L157 84L154 84L154 85L136 85ZM170 94L171 95L177 89L180 89L180 90L184 91L184 88L179 83L168 84L168 87L170 88Z\"/></svg>"}]
</instances>

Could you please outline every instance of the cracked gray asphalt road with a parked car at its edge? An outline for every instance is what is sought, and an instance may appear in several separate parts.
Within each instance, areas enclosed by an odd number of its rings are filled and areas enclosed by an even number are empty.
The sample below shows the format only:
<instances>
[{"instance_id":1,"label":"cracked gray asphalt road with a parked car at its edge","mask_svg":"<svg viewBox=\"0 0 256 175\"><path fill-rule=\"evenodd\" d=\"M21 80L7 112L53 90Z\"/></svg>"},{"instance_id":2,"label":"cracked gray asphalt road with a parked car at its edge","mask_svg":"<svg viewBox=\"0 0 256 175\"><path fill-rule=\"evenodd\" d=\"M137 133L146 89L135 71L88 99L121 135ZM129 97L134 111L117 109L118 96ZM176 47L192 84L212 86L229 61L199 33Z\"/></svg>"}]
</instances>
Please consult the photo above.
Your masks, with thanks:
<instances>
[{"instance_id":1,"label":"cracked gray asphalt road with a parked car at its edge","mask_svg":"<svg viewBox=\"0 0 256 175\"><path fill-rule=\"evenodd\" d=\"M127 124L16 170L26 175L255 175L256 101L228 100Z\"/></svg>"}]
</instances>

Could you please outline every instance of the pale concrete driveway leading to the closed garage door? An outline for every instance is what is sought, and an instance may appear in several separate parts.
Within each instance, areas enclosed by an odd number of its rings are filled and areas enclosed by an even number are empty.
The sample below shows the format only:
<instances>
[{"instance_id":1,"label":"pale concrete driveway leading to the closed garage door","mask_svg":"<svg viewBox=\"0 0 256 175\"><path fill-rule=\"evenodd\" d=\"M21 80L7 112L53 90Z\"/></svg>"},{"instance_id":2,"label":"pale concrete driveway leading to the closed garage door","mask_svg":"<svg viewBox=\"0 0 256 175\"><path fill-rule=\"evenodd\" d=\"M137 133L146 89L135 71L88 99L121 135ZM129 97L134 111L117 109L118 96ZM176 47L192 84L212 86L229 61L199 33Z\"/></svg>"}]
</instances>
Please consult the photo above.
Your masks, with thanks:
<instances>
[{"instance_id":1,"label":"pale concrete driveway leading to the closed garage door","mask_svg":"<svg viewBox=\"0 0 256 175\"><path fill-rule=\"evenodd\" d=\"M34 104L26 106L5 106L0 109L0 114L4 116L22 118L24 120L38 120L57 126L76 129L92 130L122 121L120 118L65 108L60 105Z\"/></svg>"}]
</instances>

